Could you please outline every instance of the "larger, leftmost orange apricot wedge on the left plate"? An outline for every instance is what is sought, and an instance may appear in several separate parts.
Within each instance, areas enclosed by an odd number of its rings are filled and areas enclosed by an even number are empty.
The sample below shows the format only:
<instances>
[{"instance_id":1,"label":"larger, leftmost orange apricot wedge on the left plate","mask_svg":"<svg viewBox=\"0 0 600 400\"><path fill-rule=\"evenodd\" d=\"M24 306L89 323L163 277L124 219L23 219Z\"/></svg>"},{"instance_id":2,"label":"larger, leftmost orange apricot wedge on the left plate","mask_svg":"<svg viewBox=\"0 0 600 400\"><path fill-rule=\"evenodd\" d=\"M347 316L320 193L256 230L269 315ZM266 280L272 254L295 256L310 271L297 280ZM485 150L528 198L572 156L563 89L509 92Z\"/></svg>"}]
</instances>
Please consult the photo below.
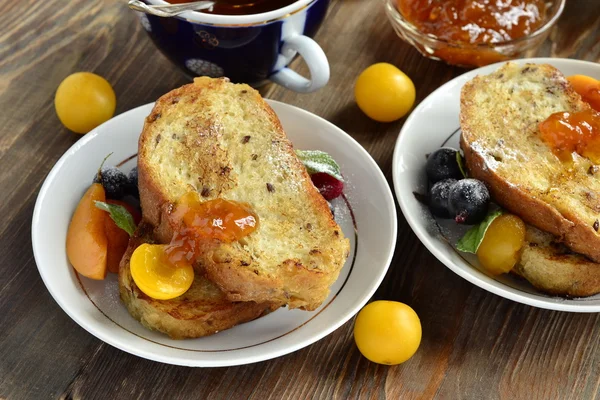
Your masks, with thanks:
<instances>
[{"instance_id":1,"label":"larger, leftmost orange apricot wedge on the left plate","mask_svg":"<svg viewBox=\"0 0 600 400\"><path fill-rule=\"evenodd\" d=\"M106 212L94 201L106 201L104 188L94 183L85 192L71 218L67 232L67 257L81 275L91 279L106 277L108 240L105 231Z\"/></svg>"}]
</instances>

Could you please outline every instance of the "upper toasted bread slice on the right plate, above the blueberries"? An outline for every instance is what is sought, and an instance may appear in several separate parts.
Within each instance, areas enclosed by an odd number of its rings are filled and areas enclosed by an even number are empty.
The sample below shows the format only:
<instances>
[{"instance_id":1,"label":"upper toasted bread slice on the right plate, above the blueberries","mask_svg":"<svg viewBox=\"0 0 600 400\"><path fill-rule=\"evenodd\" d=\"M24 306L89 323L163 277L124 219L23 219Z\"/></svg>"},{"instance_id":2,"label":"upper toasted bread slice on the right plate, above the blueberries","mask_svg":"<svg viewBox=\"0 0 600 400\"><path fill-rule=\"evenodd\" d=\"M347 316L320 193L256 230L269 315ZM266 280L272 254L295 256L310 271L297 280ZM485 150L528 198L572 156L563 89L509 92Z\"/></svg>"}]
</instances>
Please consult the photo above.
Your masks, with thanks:
<instances>
[{"instance_id":1,"label":"upper toasted bread slice on the right plate, above the blueberries","mask_svg":"<svg viewBox=\"0 0 600 400\"><path fill-rule=\"evenodd\" d=\"M461 93L461 147L474 178L527 223L600 262L600 181L592 162L565 163L539 137L551 114L589 108L550 65L507 63Z\"/></svg>"}]
</instances>

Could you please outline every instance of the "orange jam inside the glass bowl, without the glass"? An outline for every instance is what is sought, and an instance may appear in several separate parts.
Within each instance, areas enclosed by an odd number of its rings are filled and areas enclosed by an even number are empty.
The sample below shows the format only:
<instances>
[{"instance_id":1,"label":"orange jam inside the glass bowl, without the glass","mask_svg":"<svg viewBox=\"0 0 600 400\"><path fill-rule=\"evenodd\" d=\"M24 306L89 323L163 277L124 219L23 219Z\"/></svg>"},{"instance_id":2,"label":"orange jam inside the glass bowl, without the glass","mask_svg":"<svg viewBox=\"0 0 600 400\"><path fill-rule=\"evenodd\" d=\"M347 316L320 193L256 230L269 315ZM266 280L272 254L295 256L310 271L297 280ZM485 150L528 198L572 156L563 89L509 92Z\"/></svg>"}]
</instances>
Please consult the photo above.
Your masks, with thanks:
<instances>
[{"instance_id":1,"label":"orange jam inside the glass bowl, without the glass","mask_svg":"<svg viewBox=\"0 0 600 400\"><path fill-rule=\"evenodd\" d=\"M499 43L534 32L545 0L397 0L398 9L426 34L454 43Z\"/></svg>"}]
</instances>

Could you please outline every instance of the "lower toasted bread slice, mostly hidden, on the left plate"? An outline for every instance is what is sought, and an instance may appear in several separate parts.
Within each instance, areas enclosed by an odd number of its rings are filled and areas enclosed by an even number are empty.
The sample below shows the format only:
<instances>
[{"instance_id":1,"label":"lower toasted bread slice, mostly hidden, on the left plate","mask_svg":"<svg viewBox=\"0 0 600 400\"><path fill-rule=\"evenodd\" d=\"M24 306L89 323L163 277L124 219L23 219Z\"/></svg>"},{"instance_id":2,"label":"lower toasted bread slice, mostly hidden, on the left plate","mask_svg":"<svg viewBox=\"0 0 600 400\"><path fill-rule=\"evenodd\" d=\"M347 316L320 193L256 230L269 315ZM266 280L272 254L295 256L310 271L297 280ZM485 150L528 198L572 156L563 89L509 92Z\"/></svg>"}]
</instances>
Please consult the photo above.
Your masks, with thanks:
<instances>
[{"instance_id":1,"label":"lower toasted bread slice, mostly hidden, on the left plate","mask_svg":"<svg viewBox=\"0 0 600 400\"><path fill-rule=\"evenodd\" d=\"M129 261L139 245L152 242L152 227L140 224L119 267L121 300L146 328L166 333L173 339L196 338L251 321L279 307L273 303L233 303L200 274L196 274L190 289L175 299L156 300L146 296L131 277Z\"/></svg>"}]
</instances>

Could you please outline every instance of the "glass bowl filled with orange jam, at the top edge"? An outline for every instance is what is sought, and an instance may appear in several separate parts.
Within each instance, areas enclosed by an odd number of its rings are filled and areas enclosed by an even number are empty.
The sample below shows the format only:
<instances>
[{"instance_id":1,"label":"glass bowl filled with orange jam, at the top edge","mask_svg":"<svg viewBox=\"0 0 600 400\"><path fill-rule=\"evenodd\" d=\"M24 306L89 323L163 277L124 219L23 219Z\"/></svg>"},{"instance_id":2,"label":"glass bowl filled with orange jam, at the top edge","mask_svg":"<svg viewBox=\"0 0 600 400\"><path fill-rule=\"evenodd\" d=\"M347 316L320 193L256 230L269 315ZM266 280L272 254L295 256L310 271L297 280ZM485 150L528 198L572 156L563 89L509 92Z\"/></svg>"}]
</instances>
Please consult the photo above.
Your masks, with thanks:
<instances>
[{"instance_id":1,"label":"glass bowl filled with orange jam, at the top edge","mask_svg":"<svg viewBox=\"0 0 600 400\"><path fill-rule=\"evenodd\" d=\"M383 0L402 39L425 57L480 67L531 56L566 0Z\"/></svg>"}]
</instances>

